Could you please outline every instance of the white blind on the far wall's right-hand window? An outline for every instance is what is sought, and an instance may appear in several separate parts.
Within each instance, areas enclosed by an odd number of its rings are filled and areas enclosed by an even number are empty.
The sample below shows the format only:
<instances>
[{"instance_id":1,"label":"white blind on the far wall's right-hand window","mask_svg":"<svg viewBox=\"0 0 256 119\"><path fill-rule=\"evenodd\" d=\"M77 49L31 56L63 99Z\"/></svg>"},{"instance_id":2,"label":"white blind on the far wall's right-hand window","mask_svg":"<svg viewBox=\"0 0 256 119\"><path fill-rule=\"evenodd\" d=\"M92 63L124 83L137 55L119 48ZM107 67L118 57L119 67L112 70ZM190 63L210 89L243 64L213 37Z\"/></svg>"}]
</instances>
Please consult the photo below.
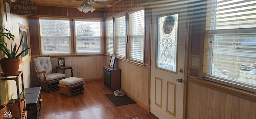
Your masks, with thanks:
<instances>
[{"instance_id":1,"label":"white blind on the far wall's right-hand window","mask_svg":"<svg viewBox=\"0 0 256 119\"><path fill-rule=\"evenodd\" d=\"M100 21L75 20L77 54L102 53L100 24Z\"/></svg>"}]
</instances>

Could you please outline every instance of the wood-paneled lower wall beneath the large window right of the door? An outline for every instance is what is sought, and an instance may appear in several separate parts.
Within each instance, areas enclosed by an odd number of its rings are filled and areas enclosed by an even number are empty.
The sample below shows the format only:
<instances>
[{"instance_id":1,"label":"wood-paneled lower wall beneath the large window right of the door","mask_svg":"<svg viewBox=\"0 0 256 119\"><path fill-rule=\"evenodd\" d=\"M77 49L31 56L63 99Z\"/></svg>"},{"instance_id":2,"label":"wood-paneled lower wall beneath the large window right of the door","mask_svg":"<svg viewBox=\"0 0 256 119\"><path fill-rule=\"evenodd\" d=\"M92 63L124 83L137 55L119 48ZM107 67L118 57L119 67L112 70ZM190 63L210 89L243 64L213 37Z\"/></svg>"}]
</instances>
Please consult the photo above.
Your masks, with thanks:
<instances>
[{"instance_id":1,"label":"wood-paneled lower wall beneath the large window right of the door","mask_svg":"<svg viewBox=\"0 0 256 119\"><path fill-rule=\"evenodd\" d=\"M256 119L256 103L188 80L186 119Z\"/></svg>"}]
</instances>

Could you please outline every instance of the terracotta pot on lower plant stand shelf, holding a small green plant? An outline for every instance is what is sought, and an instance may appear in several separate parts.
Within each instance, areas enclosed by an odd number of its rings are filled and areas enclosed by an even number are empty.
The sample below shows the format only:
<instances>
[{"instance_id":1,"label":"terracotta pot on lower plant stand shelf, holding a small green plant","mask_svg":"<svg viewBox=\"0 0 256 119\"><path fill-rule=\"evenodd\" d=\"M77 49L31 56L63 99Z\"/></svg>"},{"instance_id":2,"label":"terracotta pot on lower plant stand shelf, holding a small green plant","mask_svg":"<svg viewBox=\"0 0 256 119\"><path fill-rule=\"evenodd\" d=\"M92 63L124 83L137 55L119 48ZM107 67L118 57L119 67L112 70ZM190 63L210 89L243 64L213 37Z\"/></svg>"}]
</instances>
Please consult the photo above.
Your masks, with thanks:
<instances>
[{"instance_id":1,"label":"terracotta pot on lower plant stand shelf, holding a small green plant","mask_svg":"<svg viewBox=\"0 0 256 119\"><path fill-rule=\"evenodd\" d=\"M15 99L15 102L17 102L17 101L18 101L18 99ZM10 102L11 102L10 100L4 102L4 105L6 106L7 111L11 112L12 118L19 117L20 113L19 113L18 103L8 104ZM25 99L20 99L21 113L22 113L23 108L24 108L24 102L25 102Z\"/></svg>"}]
</instances>

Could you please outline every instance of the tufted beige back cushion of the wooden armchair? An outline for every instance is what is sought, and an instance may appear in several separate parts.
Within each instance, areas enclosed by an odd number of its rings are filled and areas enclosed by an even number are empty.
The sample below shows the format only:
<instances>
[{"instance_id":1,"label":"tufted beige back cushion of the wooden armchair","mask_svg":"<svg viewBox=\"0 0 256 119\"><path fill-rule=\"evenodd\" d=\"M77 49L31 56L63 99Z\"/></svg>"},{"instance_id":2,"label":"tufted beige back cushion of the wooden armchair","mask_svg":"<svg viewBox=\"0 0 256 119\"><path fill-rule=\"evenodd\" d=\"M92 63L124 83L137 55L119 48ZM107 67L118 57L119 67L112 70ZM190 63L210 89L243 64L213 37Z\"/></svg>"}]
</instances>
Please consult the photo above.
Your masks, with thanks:
<instances>
[{"instance_id":1,"label":"tufted beige back cushion of the wooden armchair","mask_svg":"<svg viewBox=\"0 0 256 119\"><path fill-rule=\"evenodd\" d=\"M52 64L50 57L37 57L32 59L38 72L46 71L45 74L52 74ZM43 76L44 74L38 74ZM40 78L41 79L41 78Z\"/></svg>"}]
</instances>

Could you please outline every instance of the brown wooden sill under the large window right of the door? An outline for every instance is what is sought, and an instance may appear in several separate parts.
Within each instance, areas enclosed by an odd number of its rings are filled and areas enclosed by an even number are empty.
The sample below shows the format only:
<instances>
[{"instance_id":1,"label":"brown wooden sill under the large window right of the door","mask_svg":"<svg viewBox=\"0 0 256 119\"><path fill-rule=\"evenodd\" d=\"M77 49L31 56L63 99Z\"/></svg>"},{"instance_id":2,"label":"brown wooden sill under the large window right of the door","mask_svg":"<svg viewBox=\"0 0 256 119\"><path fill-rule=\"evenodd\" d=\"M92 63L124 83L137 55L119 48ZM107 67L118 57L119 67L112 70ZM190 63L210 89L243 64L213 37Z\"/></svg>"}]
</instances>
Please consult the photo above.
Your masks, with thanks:
<instances>
[{"instance_id":1,"label":"brown wooden sill under the large window right of the door","mask_svg":"<svg viewBox=\"0 0 256 119\"><path fill-rule=\"evenodd\" d=\"M211 82L208 80L199 80L199 79L191 79L188 78L188 82L194 83L194 84L198 84L200 86L205 86L207 88L211 88L214 90L218 90L220 92L224 92L226 94L230 94L232 96L236 96L239 98L243 98L252 102L256 103L256 94L252 93L252 92L248 92L245 90L240 90L237 88L232 88L230 86L226 86L223 84L218 84L215 82Z\"/></svg>"}]
</instances>

